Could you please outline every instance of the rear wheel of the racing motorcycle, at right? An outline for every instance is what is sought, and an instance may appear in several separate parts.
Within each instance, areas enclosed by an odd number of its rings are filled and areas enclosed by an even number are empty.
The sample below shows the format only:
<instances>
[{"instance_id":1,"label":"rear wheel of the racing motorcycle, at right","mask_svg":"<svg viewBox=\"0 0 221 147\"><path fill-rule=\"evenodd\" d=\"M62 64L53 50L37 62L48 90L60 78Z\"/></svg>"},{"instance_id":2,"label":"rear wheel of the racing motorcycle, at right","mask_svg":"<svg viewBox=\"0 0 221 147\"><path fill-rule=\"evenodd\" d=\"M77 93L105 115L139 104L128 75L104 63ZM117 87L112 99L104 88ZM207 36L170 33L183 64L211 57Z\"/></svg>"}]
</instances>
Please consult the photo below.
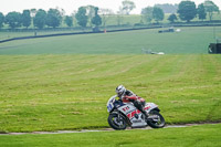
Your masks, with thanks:
<instances>
[{"instance_id":1,"label":"rear wheel of the racing motorcycle, at right","mask_svg":"<svg viewBox=\"0 0 221 147\"><path fill-rule=\"evenodd\" d=\"M147 124L152 128L162 128L165 126L165 118L157 111L152 111L149 113L147 118Z\"/></svg>"}]
</instances>

